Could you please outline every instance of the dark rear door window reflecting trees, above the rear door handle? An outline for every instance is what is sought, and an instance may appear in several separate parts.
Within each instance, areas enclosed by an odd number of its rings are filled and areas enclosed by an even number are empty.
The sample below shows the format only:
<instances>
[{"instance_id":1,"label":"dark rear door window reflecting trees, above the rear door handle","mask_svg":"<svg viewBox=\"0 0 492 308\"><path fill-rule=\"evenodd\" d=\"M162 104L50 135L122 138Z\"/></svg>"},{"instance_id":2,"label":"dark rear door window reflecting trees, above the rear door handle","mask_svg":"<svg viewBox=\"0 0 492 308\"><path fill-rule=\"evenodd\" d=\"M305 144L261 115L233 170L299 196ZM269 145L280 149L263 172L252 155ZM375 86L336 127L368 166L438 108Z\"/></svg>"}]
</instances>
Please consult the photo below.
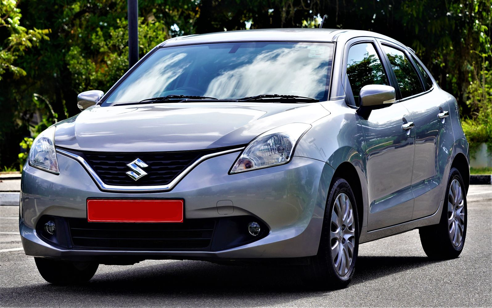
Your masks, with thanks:
<instances>
[{"instance_id":1,"label":"dark rear door window reflecting trees, above the rear door handle","mask_svg":"<svg viewBox=\"0 0 492 308\"><path fill-rule=\"evenodd\" d=\"M395 72L401 98L419 94L424 91L419 75L413 68L408 57L400 50L383 45L383 50L390 60Z\"/></svg>"}]
</instances>

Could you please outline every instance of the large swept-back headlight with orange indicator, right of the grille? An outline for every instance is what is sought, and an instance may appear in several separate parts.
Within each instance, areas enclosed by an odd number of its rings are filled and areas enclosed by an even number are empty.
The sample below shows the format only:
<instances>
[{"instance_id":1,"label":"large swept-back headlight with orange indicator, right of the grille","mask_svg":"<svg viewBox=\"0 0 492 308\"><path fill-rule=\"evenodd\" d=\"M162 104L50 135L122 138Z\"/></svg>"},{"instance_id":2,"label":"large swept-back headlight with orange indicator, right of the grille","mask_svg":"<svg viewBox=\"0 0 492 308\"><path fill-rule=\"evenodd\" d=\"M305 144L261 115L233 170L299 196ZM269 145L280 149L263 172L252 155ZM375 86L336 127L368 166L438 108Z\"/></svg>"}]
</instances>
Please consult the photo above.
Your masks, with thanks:
<instances>
[{"instance_id":1,"label":"large swept-back headlight with orange indicator, right of the grille","mask_svg":"<svg viewBox=\"0 0 492 308\"><path fill-rule=\"evenodd\" d=\"M230 173L287 164L294 155L297 141L310 128L306 123L291 123L261 134L246 146Z\"/></svg>"}]
</instances>

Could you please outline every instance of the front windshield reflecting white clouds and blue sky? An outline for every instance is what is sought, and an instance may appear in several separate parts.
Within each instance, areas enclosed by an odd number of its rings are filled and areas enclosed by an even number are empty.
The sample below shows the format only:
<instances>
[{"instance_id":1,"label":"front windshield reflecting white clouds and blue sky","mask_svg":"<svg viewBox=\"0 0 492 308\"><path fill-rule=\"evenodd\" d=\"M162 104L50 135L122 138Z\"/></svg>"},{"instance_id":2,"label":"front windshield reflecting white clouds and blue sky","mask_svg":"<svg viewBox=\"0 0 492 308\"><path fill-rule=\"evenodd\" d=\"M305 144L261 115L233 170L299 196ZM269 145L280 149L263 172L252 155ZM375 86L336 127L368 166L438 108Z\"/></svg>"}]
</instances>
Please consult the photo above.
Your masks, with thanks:
<instances>
[{"instance_id":1,"label":"front windshield reflecting white clouds and blue sky","mask_svg":"<svg viewBox=\"0 0 492 308\"><path fill-rule=\"evenodd\" d=\"M167 95L234 100L263 94L328 95L331 43L234 42L160 48L102 106Z\"/></svg>"}]
</instances>

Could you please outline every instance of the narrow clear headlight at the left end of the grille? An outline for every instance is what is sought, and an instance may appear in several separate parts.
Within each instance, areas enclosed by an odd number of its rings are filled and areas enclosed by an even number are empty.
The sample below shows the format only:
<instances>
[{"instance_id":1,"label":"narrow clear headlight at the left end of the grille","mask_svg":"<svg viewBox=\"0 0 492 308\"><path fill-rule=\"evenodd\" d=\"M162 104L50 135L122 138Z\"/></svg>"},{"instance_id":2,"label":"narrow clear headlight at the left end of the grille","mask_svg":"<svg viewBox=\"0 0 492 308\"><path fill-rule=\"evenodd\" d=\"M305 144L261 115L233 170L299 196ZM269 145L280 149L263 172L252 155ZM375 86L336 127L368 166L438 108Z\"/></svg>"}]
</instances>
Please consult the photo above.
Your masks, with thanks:
<instances>
[{"instance_id":1,"label":"narrow clear headlight at the left end of the grille","mask_svg":"<svg viewBox=\"0 0 492 308\"><path fill-rule=\"evenodd\" d=\"M60 174L55 151L55 126L43 131L32 141L29 165L34 168Z\"/></svg>"}]
</instances>

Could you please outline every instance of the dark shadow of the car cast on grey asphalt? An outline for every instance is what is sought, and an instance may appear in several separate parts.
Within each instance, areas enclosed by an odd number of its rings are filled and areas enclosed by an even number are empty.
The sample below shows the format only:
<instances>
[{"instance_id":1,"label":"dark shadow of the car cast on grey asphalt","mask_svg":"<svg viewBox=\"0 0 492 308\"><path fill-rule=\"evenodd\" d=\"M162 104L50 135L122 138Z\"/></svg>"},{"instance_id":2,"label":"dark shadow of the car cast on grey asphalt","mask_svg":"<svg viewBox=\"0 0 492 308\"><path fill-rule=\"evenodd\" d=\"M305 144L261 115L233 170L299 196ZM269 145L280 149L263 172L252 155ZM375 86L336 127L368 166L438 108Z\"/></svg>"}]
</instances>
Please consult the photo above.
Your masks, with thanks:
<instances>
[{"instance_id":1,"label":"dark shadow of the car cast on grey asphalt","mask_svg":"<svg viewBox=\"0 0 492 308\"><path fill-rule=\"evenodd\" d=\"M358 289L360 286L357 285L365 281L434 262L423 256L361 256L349 288ZM179 304L184 307L249 307L257 306L259 300L262 306L280 305L334 292L303 287L300 267L223 266L201 261L167 261L121 269L114 271L102 266L89 283L77 286L49 283L11 288L2 286L2 306L39 307L55 303L72 306L79 303L76 306Z\"/></svg>"}]
</instances>

